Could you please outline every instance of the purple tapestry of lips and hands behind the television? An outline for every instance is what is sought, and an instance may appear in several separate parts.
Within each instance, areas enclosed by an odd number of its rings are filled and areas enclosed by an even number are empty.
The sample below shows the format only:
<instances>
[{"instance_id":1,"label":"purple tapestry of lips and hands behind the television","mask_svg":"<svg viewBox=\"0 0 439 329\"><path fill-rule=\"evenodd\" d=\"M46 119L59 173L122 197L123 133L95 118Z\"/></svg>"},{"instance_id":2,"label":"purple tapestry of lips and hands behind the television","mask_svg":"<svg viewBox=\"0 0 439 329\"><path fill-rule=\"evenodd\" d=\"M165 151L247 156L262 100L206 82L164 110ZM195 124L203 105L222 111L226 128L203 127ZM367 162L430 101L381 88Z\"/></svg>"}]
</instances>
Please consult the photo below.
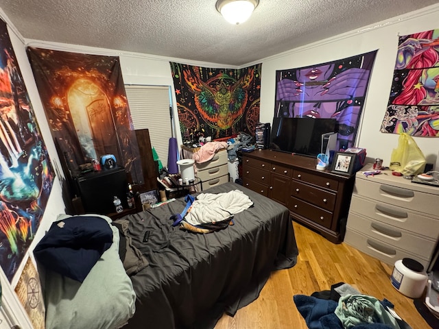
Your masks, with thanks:
<instances>
[{"instance_id":1,"label":"purple tapestry of lips and hands behind the television","mask_svg":"<svg viewBox=\"0 0 439 329\"><path fill-rule=\"evenodd\" d=\"M274 117L337 119L337 149L353 147L376 55L276 71Z\"/></svg>"}]
</instances>

